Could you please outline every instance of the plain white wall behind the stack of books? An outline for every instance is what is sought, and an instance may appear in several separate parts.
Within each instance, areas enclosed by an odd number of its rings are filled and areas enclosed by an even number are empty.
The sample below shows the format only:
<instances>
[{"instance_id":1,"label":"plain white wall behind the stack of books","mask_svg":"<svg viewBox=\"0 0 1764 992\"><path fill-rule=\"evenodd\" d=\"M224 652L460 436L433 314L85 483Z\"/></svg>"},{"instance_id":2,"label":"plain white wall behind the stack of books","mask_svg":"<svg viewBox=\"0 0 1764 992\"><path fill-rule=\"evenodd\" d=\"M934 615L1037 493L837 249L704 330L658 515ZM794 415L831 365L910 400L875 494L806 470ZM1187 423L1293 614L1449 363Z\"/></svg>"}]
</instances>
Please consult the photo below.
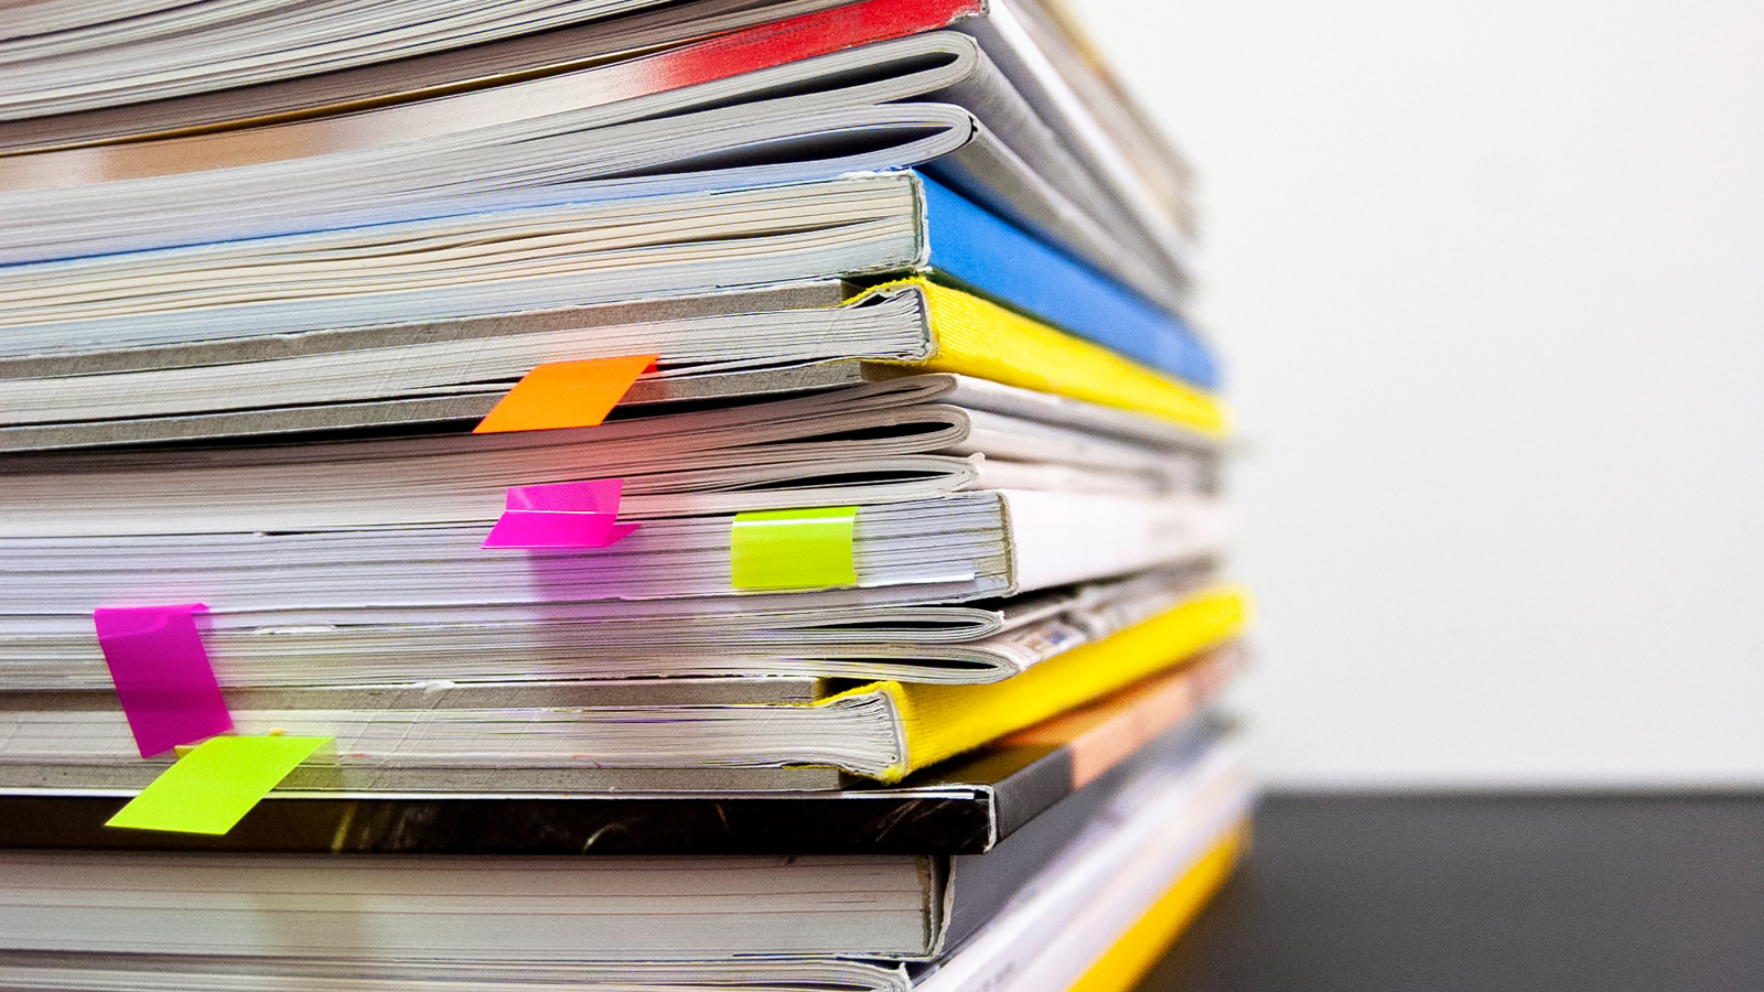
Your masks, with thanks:
<instances>
[{"instance_id":1,"label":"plain white wall behind the stack of books","mask_svg":"<svg viewBox=\"0 0 1764 992\"><path fill-rule=\"evenodd\" d=\"M1764 784L1764 5L1071 4L1201 177L1270 780Z\"/></svg>"}]
</instances>

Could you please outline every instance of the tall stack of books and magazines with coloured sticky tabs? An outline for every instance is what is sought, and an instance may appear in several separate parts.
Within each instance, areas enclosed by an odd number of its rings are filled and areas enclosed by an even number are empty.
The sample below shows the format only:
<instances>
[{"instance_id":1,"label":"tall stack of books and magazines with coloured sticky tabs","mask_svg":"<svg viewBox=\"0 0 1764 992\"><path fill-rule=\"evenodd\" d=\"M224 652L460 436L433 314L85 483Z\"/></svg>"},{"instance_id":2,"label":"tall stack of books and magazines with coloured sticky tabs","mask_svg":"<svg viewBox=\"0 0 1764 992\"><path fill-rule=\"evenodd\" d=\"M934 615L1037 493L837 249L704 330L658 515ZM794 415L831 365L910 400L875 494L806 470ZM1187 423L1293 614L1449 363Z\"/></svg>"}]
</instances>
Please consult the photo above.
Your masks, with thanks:
<instances>
[{"instance_id":1,"label":"tall stack of books and magazines with coloured sticky tabs","mask_svg":"<svg viewBox=\"0 0 1764 992\"><path fill-rule=\"evenodd\" d=\"M1187 184L1050 0L11 7L0 987L1129 988Z\"/></svg>"}]
</instances>

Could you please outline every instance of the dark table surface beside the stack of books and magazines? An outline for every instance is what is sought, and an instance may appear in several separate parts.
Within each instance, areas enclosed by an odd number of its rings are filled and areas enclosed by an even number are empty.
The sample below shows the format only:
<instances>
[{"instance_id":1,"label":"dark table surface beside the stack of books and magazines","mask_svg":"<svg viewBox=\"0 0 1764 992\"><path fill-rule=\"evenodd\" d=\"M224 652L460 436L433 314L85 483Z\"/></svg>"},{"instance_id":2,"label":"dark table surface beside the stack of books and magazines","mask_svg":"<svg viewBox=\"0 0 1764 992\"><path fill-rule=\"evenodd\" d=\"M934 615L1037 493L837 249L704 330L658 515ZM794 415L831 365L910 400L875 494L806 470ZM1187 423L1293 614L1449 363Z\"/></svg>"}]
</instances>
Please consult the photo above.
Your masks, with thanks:
<instances>
[{"instance_id":1,"label":"dark table surface beside the stack of books and magazines","mask_svg":"<svg viewBox=\"0 0 1764 992\"><path fill-rule=\"evenodd\" d=\"M1764 990L1764 798L1272 796L1141 992Z\"/></svg>"}]
</instances>

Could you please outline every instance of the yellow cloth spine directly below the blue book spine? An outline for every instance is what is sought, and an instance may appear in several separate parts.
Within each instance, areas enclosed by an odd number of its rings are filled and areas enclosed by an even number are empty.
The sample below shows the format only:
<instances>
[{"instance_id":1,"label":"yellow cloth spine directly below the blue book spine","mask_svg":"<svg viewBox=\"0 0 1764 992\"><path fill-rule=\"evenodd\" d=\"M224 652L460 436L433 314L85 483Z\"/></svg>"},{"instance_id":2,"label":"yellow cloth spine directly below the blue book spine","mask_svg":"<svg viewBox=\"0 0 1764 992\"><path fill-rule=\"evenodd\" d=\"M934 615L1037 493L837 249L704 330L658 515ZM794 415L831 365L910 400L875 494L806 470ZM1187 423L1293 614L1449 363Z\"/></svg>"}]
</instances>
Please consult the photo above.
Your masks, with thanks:
<instances>
[{"instance_id":1,"label":"yellow cloth spine directly below the blue book spine","mask_svg":"<svg viewBox=\"0 0 1764 992\"><path fill-rule=\"evenodd\" d=\"M972 293L919 277L877 286L852 304L905 286L924 293L937 351L901 365L1148 413L1208 438L1230 431L1212 394Z\"/></svg>"}]
</instances>

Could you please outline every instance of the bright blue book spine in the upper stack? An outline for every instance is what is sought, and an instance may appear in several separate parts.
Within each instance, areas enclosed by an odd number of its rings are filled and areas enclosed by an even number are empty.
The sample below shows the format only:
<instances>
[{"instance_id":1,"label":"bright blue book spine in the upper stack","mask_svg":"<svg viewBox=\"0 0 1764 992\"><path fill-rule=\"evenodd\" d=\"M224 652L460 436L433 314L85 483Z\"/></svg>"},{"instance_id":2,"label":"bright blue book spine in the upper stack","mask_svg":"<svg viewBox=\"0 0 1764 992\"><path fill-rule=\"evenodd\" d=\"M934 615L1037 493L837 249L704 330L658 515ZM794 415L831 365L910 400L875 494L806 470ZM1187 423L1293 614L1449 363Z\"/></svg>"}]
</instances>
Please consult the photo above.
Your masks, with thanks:
<instances>
[{"instance_id":1,"label":"bright blue book spine in the upper stack","mask_svg":"<svg viewBox=\"0 0 1764 992\"><path fill-rule=\"evenodd\" d=\"M931 272L1201 388L1219 365L1180 316L919 173Z\"/></svg>"}]
</instances>

